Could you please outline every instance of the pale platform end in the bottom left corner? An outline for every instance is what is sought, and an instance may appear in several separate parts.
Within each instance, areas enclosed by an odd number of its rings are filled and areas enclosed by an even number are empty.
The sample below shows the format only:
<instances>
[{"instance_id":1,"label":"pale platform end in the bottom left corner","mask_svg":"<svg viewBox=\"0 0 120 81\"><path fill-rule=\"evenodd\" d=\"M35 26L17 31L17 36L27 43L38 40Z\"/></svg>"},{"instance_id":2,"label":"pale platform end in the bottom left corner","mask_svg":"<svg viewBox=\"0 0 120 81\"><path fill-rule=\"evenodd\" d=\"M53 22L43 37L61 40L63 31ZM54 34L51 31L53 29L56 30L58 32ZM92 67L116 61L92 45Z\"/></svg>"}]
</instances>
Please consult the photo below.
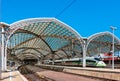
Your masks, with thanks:
<instances>
[{"instance_id":1,"label":"pale platform end in the bottom left corner","mask_svg":"<svg viewBox=\"0 0 120 81\"><path fill-rule=\"evenodd\" d=\"M19 71L8 71L2 73L0 81L28 81Z\"/></svg>"}]
</instances>

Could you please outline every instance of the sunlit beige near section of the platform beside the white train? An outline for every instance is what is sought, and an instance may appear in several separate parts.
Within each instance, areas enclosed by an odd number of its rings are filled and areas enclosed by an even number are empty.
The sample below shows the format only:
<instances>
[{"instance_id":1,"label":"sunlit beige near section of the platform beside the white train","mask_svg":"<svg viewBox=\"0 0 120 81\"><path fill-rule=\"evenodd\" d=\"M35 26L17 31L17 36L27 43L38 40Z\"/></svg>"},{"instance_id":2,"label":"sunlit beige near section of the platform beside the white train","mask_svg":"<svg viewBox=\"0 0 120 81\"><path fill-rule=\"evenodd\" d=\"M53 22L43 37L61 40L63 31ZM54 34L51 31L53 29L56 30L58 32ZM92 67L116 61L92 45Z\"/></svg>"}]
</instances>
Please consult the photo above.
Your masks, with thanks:
<instances>
[{"instance_id":1,"label":"sunlit beige near section of the platform beside the white train","mask_svg":"<svg viewBox=\"0 0 120 81\"><path fill-rule=\"evenodd\" d=\"M63 72L120 81L120 69L67 67Z\"/></svg>"}]
</instances>

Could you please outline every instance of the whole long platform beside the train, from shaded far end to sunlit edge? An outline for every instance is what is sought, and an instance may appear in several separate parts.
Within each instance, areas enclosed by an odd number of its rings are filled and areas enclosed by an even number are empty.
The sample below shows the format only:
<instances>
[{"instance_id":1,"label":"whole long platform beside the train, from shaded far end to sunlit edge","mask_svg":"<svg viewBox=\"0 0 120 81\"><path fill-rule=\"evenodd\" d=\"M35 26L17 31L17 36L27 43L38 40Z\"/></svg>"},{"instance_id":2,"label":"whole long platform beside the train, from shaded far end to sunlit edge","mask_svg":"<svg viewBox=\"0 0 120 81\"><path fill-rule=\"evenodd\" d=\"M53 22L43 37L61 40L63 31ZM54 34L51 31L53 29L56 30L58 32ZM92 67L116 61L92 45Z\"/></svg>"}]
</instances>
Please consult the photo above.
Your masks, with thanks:
<instances>
[{"instance_id":1,"label":"whole long platform beside the train, from shaded far end to sunlit edge","mask_svg":"<svg viewBox=\"0 0 120 81\"><path fill-rule=\"evenodd\" d=\"M113 81L120 81L120 69L109 69L109 68L82 68L82 67L67 67L67 66L55 66L55 65L36 65L38 67L51 69L51 70L60 70L64 73L96 77ZM86 81L86 80L85 80Z\"/></svg>"}]
</instances>

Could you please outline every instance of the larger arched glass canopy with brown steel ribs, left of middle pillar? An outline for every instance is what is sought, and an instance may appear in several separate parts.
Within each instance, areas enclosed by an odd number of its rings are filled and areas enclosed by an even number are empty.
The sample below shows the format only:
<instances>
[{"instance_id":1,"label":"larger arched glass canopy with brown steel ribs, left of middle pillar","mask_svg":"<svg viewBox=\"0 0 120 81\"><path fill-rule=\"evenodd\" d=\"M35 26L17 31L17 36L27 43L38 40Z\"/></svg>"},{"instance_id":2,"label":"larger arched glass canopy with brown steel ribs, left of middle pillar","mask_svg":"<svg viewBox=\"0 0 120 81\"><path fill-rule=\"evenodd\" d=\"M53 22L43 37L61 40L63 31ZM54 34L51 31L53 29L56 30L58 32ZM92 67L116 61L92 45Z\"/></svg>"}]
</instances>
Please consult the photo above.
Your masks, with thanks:
<instances>
[{"instance_id":1,"label":"larger arched glass canopy with brown steel ribs, left of middle pillar","mask_svg":"<svg viewBox=\"0 0 120 81\"><path fill-rule=\"evenodd\" d=\"M82 38L55 18L32 18L10 25L8 54L17 59L82 57Z\"/></svg>"}]
</instances>

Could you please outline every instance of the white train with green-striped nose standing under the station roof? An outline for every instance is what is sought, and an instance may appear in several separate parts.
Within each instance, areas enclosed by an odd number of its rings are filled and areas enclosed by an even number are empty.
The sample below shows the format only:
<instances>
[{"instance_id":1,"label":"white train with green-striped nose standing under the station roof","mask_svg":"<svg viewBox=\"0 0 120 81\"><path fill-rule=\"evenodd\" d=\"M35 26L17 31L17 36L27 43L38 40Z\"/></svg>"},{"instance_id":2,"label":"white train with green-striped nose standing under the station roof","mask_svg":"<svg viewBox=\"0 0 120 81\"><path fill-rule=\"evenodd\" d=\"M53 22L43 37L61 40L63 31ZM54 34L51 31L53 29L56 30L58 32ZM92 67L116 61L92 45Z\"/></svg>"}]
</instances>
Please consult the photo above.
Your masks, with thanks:
<instances>
[{"instance_id":1,"label":"white train with green-striped nose standing under the station roof","mask_svg":"<svg viewBox=\"0 0 120 81\"><path fill-rule=\"evenodd\" d=\"M54 62L47 60L45 62L47 64L63 65L63 66L82 66L83 59L82 58L72 58L72 59L54 60ZM87 67L105 67L106 64L99 58L86 57L86 66Z\"/></svg>"}]
</instances>

